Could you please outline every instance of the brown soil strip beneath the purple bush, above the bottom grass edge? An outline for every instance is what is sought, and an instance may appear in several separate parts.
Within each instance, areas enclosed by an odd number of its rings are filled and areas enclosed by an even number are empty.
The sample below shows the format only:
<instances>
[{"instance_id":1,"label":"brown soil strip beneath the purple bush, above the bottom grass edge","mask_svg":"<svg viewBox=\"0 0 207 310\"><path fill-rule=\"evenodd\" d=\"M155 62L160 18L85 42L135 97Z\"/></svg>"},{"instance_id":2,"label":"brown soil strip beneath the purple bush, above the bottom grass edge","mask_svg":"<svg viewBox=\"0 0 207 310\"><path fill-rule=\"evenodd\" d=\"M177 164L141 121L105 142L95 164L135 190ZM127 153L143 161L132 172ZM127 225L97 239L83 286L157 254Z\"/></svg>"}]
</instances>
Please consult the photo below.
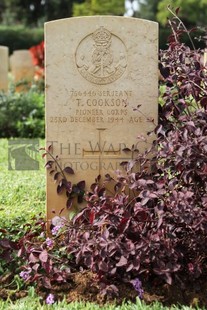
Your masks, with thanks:
<instances>
[{"instance_id":1,"label":"brown soil strip beneath the purple bush, above the bottom grass edge","mask_svg":"<svg viewBox=\"0 0 207 310\"><path fill-rule=\"evenodd\" d=\"M15 289L8 288L6 283L11 280L12 275L7 275L0 278L0 298L15 300L27 295L26 290L15 292ZM57 299L66 297L68 303L72 301L89 301L100 305L106 302L116 302L121 304L123 300L135 301L137 292L130 283L113 283L118 287L119 295L102 294L100 293L100 286L96 281L96 277L89 271L76 272L71 275L71 281L60 286L53 286L50 293L53 293ZM163 305L171 306L187 305L192 307L206 307L207 308L207 281L200 281L184 288L178 283L175 285L168 285L161 283L159 280L153 280L150 283L143 285L144 295L143 301L149 304L155 301L161 302ZM37 294L44 299L48 295L43 289L39 288Z\"/></svg>"}]
</instances>

